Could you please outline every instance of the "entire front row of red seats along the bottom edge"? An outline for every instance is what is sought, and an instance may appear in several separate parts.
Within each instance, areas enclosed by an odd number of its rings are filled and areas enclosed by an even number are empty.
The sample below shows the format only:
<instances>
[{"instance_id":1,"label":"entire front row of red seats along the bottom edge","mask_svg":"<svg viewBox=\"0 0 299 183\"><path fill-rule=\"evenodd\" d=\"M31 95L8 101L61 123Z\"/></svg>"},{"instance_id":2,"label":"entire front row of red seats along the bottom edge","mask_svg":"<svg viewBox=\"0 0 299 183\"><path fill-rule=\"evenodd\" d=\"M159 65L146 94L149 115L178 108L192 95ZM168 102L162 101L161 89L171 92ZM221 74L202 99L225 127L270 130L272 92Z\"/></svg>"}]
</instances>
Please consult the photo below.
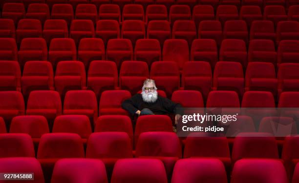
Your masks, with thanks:
<instances>
[{"instance_id":1,"label":"entire front row of red seats along the bottom edge","mask_svg":"<svg viewBox=\"0 0 299 183\"><path fill-rule=\"evenodd\" d=\"M36 178L35 183L44 183L41 165L35 158L1 158L0 165L3 172L32 172ZM105 164L100 160L61 159L54 166L51 183L82 183L86 177L91 182L108 183L106 173ZM270 159L239 160L234 166L231 179L231 183L289 183L282 163ZM195 183L197 180L228 183L221 161L213 158L178 160L169 181L160 160L122 159L114 166L111 183ZM292 180L292 183L299 181L299 165L296 166Z\"/></svg>"}]
</instances>

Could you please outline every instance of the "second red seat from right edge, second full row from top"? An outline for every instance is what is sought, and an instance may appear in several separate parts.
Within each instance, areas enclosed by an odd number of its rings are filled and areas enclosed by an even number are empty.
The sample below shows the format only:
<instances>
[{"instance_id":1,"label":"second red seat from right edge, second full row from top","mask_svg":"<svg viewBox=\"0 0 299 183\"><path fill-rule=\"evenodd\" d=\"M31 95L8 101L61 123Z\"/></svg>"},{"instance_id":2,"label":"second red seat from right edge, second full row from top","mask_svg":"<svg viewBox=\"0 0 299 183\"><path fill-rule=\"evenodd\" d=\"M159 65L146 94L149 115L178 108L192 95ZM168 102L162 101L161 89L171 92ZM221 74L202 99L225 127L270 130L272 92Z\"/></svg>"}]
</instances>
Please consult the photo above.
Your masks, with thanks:
<instances>
[{"instance_id":1,"label":"second red seat from right edge, second full row from top","mask_svg":"<svg viewBox=\"0 0 299 183\"><path fill-rule=\"evenodd\" d=\"M269 20L253 21L250 28L250 40L252 39L271 39L275 40L274 23Z\"/></svg>"}]
</instances>

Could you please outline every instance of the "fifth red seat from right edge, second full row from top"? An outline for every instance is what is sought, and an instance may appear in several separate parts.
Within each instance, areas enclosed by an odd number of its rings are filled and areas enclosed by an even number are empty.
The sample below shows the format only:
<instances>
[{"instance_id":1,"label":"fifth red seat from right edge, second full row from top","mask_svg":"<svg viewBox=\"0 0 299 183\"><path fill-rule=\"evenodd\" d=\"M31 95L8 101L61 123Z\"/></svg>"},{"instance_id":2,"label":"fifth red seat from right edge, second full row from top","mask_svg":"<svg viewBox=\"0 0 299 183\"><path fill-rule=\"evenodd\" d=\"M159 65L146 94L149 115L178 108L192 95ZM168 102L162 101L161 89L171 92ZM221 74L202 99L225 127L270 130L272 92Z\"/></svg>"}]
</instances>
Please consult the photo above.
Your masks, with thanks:
<instances>
[{"instance_id":1,"label":"fifth red seat from right edge, second full row from top","mask_svg":"<svg viewBox=\"0 0 299 183\"><path fill-rule=\"evenodd\" d=\"M192 41L196 39L196 27L192 20L177 20L173 23L172 38L173 39L185 39L188 42L189 47L192 45Z\"/></svg>"}]
</instances>

